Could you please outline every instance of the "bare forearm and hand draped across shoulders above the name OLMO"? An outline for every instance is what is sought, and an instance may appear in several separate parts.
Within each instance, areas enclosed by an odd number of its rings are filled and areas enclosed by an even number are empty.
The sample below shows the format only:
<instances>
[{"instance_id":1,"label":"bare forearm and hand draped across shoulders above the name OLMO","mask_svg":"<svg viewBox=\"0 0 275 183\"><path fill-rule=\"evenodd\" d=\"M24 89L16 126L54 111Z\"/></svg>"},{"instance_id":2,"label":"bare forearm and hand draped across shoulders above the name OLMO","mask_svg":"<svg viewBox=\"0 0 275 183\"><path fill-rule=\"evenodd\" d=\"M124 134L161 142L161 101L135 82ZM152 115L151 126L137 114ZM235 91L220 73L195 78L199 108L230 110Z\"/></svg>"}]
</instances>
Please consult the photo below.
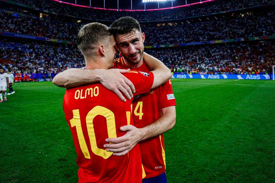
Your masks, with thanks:
<instances>
[{"instance_id":1,"label":"bare forearm and hand draped across shoulders above the name OLMO","mask_svg":"<svg viewBox=\"0 0 275 183\"><path fill-rule=\"evenodd\" d=\"M70 88L82 84L101 82L107 89L114 91L122 101L126 101L122 93L128 98L133 97L135 88L133 83L121 73L125 69L67 69L53 78L53 84Z\"/></svg>"}]
</instances>

